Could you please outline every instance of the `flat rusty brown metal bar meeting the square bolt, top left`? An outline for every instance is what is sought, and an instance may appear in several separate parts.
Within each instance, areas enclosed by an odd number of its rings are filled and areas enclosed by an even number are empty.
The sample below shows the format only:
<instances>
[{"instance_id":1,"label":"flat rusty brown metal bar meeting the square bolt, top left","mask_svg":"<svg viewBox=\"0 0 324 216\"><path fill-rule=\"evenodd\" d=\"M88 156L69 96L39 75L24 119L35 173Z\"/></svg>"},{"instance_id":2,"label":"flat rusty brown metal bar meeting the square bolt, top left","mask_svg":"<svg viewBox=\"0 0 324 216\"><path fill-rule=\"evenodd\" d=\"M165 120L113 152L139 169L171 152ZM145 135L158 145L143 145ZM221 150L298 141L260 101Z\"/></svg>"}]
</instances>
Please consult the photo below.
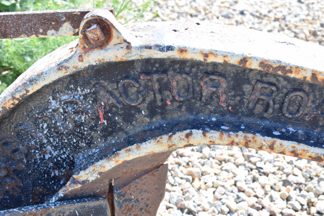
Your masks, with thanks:
<instances>
[{"instance_id":1,"label":"flat rusty brown metal bar meeting the square bolt, top left","mask_svg":"<svg viewBox=\"0 0 324 216\"><path fill-rule=\"evenodd\" d=\"M114 14L113 8L105 9ZM94 10L98 9L0 13L0 38L76 36L84 16Z\"/></svg>"}]
</instances>

